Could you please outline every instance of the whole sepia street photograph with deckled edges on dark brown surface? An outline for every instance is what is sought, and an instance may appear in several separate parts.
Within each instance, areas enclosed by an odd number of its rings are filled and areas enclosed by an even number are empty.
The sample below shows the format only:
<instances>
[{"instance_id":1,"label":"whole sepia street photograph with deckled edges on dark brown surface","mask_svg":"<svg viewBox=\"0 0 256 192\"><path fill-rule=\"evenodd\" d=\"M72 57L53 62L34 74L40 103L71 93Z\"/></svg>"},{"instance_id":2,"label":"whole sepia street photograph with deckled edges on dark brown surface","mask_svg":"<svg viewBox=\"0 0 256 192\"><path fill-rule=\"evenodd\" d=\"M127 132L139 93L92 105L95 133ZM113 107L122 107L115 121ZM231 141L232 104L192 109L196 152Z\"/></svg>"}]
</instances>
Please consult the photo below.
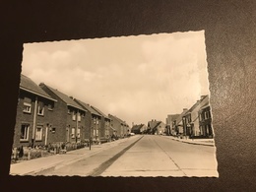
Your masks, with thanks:
<instances>
[{"instance_id":1,"label":"whole sepia street photograph with deckled edges on dark brown surface","mask_svg":"<svg viewBox=\"0 0 256 192\"><path fill-rule=\"evenodd\" d=\"M24 43L11 175L219 177L205 32Z\"/></svg>"}]
</instances>

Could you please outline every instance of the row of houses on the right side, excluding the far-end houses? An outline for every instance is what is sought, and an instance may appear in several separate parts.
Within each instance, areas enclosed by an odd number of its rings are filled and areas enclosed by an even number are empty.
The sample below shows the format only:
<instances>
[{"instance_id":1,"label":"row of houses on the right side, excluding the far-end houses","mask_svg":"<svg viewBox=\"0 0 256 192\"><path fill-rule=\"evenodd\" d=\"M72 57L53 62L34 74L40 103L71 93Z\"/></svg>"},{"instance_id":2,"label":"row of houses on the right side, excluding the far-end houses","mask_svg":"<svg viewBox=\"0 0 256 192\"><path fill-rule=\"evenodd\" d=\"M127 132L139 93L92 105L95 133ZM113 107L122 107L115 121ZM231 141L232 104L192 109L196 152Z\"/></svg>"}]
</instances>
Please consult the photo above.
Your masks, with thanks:
<instances>
[{"instance_id":1,"label":"row of houses on the right side, excluding the far-end houses","mask_svg":"<svg viewBox=\"0 0 256 192\"><path fill-rule=\"evenodd\" d=\"M190 138L213 138L212 114L209 96L201 96L189 109L166 118L166 134Z\"/></svg>"}]
</instances>

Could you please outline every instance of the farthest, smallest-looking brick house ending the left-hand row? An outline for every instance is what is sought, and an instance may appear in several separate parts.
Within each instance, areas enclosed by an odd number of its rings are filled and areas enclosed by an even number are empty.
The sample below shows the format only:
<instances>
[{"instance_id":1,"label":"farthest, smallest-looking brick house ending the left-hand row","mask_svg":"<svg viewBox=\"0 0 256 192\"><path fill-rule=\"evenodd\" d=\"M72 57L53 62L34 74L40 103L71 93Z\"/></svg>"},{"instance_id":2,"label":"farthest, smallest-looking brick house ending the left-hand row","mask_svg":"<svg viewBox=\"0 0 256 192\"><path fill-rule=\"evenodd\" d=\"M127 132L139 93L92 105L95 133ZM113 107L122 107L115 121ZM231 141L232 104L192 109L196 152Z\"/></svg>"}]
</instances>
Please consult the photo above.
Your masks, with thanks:
<instances>
[{"instance_id":1,"label":"farthest, smallest-looking brick house ending the left-hand row","mask_svg":"<svg viewBox=\"0 0 256 192\"><path fill-rule=\"evenodd\" d=\"M108 114L108 117L110 119L110 126L115 130L116 136L119 138L126 137L128 135L129 126L125 121L111 114Z\"/></svg>"}]
</instances>

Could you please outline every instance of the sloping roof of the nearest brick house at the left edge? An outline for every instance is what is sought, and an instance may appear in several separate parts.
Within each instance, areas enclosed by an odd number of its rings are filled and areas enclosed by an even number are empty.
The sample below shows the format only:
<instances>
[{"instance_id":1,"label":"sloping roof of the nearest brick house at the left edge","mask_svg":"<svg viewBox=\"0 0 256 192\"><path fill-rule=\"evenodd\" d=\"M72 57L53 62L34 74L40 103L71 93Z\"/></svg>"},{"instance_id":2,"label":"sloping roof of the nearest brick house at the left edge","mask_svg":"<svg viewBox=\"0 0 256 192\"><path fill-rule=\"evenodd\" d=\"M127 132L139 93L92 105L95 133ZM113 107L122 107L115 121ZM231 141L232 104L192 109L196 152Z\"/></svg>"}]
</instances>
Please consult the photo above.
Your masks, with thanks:
<instances>
[{"instance_id":1,"label":"sloping roof of the nearest brick house at the left edge","mask_svg":"<svg viewBox=\"0 0 256 192\"><path fill-rule=\"evenodd\" d=\"M39 86L37 86L32 79L30 79L29 77L21 74L21 82L20 82L20 89L24 90L26 92L32 93L36 96L42 96L54 101L57 101L55 99L53 99L51 96L49 96L48 94L46 94Z\"/></svg>"}]
</instances>

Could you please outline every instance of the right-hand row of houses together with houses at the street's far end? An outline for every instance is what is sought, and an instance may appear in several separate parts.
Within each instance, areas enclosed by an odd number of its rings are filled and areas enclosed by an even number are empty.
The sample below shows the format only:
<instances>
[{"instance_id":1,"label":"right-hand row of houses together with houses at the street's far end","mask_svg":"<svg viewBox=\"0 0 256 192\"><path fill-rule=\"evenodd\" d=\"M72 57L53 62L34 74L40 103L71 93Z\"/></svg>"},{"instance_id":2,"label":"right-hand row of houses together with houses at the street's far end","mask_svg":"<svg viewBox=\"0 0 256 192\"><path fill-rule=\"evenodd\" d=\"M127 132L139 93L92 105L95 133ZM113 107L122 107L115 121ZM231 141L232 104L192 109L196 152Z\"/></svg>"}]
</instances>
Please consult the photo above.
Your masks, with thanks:
<instances>
[{"instance_id":1,"label":"right-hand row of houses together with houses at the street's far end","mask_svg":"<svg viewBox=\"0 0 256 192\"><path fill-rule=\"evenodd\" d=\"M170 135L189 138L213 138L212 114L209 96L201 96L189 109L180 114L169 114L166 123L152 119L145 124L133 125L135 134Z\"/></svg>"}]
</instances>

